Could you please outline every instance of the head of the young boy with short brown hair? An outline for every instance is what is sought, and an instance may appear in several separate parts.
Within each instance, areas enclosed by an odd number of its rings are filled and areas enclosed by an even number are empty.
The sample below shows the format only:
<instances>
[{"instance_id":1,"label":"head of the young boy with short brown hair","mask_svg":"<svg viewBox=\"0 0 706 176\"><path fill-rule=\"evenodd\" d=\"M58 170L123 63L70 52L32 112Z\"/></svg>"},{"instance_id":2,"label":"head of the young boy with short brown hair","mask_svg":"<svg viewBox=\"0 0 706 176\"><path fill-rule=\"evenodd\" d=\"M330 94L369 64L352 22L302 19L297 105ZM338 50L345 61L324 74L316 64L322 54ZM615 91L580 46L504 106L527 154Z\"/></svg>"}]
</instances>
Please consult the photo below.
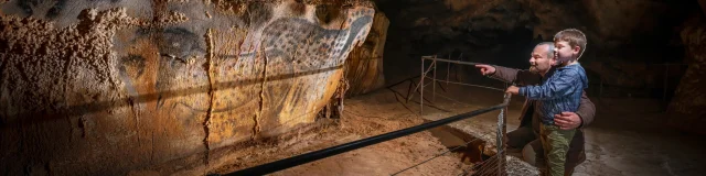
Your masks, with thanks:
<instances>
[{"instance_id":1,"label":"head of the young boy with short brown hair","mask_svg":"<svg viewBox=\"0 0 706 176\"><path fill-rule=\"evenodd\" d=\"M576 29L566 29L554 35L557 64L578 61L586 51L586 35Z\"/></svg>"}]
</instances>

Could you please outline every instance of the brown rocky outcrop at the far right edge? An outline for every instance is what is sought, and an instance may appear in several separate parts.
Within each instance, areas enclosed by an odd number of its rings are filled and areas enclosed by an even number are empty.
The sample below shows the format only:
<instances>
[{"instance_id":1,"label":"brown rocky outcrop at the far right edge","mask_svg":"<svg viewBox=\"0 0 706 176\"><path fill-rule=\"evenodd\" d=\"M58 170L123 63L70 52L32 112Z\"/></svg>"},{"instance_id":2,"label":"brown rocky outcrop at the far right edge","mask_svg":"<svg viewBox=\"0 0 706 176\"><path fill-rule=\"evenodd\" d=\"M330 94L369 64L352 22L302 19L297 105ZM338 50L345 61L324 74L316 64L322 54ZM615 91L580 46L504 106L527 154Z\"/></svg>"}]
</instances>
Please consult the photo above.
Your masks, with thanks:
<instances>
[{"instance_id":1,"label":"brown rocky outcrop at the far right edge","mask_svg":"<svg viewBox=\"0 0 706 176\"><path fill-rule=\"evenodd\" d=\"M688 69L682 77L668 107L671 125L706 134L706 18L696 13L685 23L682 41L686 46Z\"/></svg>"}]
</instances>

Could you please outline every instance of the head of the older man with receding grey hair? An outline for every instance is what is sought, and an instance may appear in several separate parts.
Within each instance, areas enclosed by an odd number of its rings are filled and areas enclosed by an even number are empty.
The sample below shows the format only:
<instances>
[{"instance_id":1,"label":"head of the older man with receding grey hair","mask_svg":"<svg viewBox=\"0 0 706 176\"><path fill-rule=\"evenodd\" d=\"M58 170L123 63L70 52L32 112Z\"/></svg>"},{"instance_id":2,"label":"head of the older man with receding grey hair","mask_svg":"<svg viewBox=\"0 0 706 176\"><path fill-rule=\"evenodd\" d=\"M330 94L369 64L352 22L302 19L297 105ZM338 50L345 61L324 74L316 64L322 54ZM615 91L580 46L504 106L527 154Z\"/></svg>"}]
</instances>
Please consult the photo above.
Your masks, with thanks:
<instances>
[{"instance_id":1,"label":"head of the older man with receding grey hair","mask_svg":"<svg viewBox=\"0 0 706 176\"><path fill-rule=\"evenodd\" d=\"M554 63L554 43L542 42L534 46L530 55L530 72L546 74Z\"/></svg>"}]
</instances>

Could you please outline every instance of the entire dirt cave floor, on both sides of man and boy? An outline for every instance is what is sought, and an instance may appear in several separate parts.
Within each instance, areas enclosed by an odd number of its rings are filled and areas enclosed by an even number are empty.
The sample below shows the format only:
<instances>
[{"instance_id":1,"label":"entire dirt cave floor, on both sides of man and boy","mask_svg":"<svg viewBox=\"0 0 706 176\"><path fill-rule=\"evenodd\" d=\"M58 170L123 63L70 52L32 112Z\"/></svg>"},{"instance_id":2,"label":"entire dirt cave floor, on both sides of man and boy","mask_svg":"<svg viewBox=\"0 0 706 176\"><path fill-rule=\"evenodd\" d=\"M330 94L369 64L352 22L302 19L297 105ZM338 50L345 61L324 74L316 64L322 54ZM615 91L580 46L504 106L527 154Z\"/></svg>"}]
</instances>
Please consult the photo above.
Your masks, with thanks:
<instances>
[{"instance_id":1,"label":"entire dirt cave floor, on both sides of man and boy","mask_svg":"<svg viewBox=\"0 0 706 176\"><path fill-rule=\"evenodd\" d=\"M221 160L211 162L208 173L231 173L502 101L502 92L498 90L445 84L443 89L436 88L435 96L425 89L425 98L429 102L425 101L424 116L420 117L419 96L406 102L407 90L408 84L405 82L346 99L341 119L320 120L299 133L225 152L227 154ZM585 130L587 161L576 168L574 175L703 175L706 172L703 167L706 164L706 150L703 147L706 141L703 136L660 127L665 114L659 100L597 97L591 100L596 103L597 116ZM507 131L517 128L523 102L524 98L513 97L507 113ZM494 153L499 112L492 111L445 128L483 140L478 146ZM453 152L399 173L464 142L443 135L448 134L439 133L439 129L419 132L271 175L463 175L474 166L473 163L488 161L462 160L468 153ZM510 175L537 174L536 168L517 162L514 156L507 156L507 160L511 161Z\"/></svg>"}]
</instances>

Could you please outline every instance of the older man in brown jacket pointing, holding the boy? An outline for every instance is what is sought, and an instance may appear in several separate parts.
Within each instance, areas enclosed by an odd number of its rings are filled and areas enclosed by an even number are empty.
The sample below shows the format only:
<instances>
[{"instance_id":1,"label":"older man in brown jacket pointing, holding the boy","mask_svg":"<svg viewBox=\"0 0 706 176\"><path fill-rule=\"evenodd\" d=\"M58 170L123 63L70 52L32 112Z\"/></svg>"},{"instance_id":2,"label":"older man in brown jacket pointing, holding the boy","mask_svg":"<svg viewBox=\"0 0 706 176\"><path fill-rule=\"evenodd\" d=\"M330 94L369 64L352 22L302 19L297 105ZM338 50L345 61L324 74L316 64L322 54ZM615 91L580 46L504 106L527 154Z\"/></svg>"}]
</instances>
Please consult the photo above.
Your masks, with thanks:
<instances>
[{"instance_id":1,"label":"older man in brown jacket pointing, holding the boy","mask_svg":"<svg viewBox=\"0 0 706 176\"><path fill-rule=\"evenodd\" d=\"M521 86L541 85L554 72L550 59L554 57L554 43L544 42L535 46L530 58L530 70L520 70L505 68L500 66L477 65L481 74L500 79L506 82L515 82ZM545 77L546 76L546 77ZM539 168L544 168L544 150L539 141L539 114L535 108L537 102L526 100L522 113L520 116L520 128L507 133L506 144L509 151L522 148L523 160ZM577 129L569 151L566 156L565 175L571 175L574 168L586 160L584 152L584 132L582 128L593 121L596 108L588 99L586 92L582 92L580 106L576 112L561 112L555 114L555 124L563 130Z\"/></svg>"}]
</instances>

